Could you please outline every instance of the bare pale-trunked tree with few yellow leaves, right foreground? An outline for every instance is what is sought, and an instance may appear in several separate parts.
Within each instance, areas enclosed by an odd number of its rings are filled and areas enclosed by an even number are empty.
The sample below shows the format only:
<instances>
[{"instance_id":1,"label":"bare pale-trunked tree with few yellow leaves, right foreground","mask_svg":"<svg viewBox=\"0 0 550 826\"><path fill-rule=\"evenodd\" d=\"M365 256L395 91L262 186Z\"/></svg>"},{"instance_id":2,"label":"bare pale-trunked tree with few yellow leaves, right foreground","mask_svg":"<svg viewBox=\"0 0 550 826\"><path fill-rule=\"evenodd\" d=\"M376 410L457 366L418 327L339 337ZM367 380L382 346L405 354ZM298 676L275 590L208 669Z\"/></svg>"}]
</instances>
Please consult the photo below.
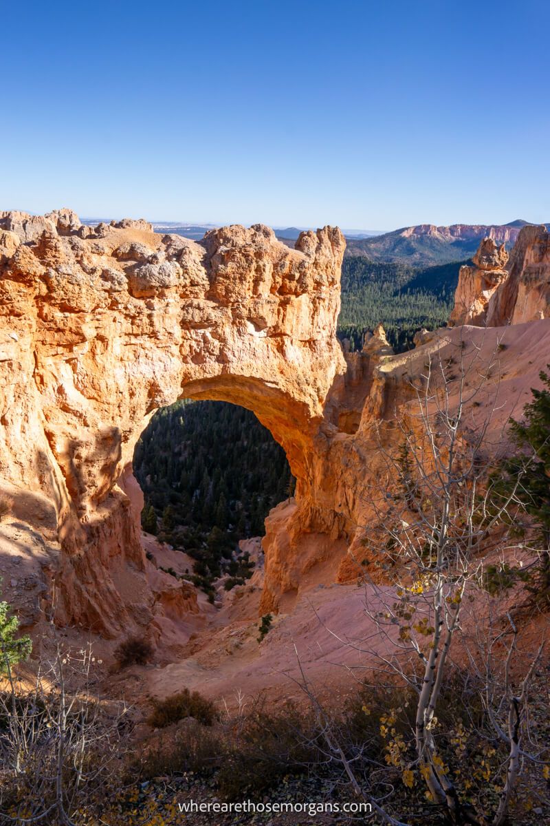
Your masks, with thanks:
<instances>
[{"instance_id":1,"label":"bare pale-trunked tree with few yellow leaves, right foreground","mask_svg":"<svg viewBox=\"0 0 550 826\"><path fill-rule=\"evenodd\" d=\"M508 421L500 412L501 349L498 339L492 349L483 341L468 347L462 341L437 343L420 370L417 355L411 354L408 400L391 419L374 425L378 449L364 499L368 522L360 526L364 559L357 562L368 586L364 610L375 630L359 643L341 640L369 653L372 671L393 675L413 692L414 756L407 759L405 744L392 740L394 720L388 714L383 729L389 759L402 767L406 785L425 783L429 799L455 824L487 821L464 804L463 790L445 764L438 747L438 709L452 654L464 652L463 626L479 624L478 630L490 634L487 618L465 606L478 605L487 554L519 553L503 524L510 524L521 505L519 486L529 472L526 457L515 484L504 492L498 484ZM384 569L384 585L375 582L377 564ZM515 643L510 656L513 650ZM494 655L494 640L491 651ZM507 732L487 706L494 733L509 747L494 826L504 822L517 784L521 716L541 653L542 648L527 667L517 695L505 679L501 699L509 708ZM487 645L477 650L475 674L483 656ZM486 700L487 692L495 694L494 672L485 673L479 691Z\"/></svg>"}]
</instances>

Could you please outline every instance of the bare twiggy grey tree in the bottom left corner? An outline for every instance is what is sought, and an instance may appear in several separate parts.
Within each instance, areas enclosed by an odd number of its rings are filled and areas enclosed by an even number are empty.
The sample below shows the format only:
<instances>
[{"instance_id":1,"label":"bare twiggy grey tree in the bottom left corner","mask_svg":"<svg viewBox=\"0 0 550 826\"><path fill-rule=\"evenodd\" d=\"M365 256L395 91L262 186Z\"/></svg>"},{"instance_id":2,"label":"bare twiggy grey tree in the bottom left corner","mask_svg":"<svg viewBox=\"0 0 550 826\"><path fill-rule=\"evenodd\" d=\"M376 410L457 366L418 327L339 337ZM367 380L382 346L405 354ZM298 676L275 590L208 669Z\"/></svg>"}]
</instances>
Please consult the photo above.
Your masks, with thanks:
<instances>
[{"instance_id":1,"label":"bare twiggy grey tree in the bottom left corner","mask_svg":"<svg viewBox=\"0 0 550 826\"><path fill-rule=\"evenodd\" d=\"M95 695L92 645L70 651L53 625L42 642L34 677L7 663L0 693L0 823L77 826L118 771L128 709Z\"/></svg>"}]
</instances>

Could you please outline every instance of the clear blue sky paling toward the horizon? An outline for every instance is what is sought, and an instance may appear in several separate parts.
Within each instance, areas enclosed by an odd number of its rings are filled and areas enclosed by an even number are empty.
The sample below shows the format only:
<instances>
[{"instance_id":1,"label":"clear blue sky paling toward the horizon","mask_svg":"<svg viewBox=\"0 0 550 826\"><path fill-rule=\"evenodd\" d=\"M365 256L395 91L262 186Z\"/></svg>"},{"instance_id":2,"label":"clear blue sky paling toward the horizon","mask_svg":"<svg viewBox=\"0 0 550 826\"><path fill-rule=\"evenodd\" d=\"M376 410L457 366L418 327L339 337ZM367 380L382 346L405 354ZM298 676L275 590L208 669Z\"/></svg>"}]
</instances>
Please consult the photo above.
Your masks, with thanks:
<instances>
[{"instance_id":1,"label":"clear blue sky paling toward the horizon","mask_svg":"<svg viewBox=\"0 0 550 826\"><path fill-rule=\"evenodd\" d=\"M0 210L550 221L548 2L4 2Z\"/></svg>"}]
</instances>

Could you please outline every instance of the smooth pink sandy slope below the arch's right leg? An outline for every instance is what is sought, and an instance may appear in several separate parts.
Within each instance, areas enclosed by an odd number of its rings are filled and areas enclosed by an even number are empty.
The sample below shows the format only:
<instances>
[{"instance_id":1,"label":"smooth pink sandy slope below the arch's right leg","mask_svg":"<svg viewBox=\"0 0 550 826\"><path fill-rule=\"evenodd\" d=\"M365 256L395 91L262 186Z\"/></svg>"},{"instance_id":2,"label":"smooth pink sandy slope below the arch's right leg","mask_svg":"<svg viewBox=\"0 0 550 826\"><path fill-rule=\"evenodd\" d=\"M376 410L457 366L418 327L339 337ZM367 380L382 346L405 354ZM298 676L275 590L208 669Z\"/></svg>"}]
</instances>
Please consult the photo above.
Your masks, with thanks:
<instances>
[{"instance_id":1,"label":"smooth pink sandy slope below the arch's right leg","mask_svg":"<svg viewBox=\"0 0 550 826\"><path fill-rule=\"evenodd\" d=\"M332 692L336 686L355 683L347 669L359 674L365 664L366 657L346 642L374 632L364 613L364 591L356 586L314 589L299 600L292 614L274 617L261 643L258 624L254 617L227 624L216 633L209 629L196 640L196 653L148 672L148 692L161 697L188 686L228 705L236 703L239 695L250 698L262 691L274 700L299 699L303 696L297 684L300 667L308 680Z\"/></svg>"}]
</instances>

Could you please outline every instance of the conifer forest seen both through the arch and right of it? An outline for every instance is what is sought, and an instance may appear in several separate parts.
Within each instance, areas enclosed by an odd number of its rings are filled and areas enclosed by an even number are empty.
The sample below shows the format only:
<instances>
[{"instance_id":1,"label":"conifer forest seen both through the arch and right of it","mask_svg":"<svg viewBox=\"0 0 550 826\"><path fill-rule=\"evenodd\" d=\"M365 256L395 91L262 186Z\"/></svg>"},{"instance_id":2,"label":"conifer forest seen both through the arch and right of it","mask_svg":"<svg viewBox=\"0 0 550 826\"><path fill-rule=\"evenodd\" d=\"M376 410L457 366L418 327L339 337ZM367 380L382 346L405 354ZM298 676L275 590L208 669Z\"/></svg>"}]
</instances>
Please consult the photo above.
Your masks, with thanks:
<instances>
[{"instance_id":1,"label":"conifer forest seen both through the arch and right of it","mask_svg":"<svg viewBox=\"0 0 550 826\"><path fill-rule=\"evenodd\" d=\"M382 323L397 350L421 327L444 325L460 263L413 268L346 258L338 335L360 348ZM270 509L294 491L280 445L250 411L221 401L178 401L158 411L134 454L145 495L144 529L195 558L207 589L224 568L250 573L232 557L239 539L263 534Z\"/></svg>"}]
</instances>

